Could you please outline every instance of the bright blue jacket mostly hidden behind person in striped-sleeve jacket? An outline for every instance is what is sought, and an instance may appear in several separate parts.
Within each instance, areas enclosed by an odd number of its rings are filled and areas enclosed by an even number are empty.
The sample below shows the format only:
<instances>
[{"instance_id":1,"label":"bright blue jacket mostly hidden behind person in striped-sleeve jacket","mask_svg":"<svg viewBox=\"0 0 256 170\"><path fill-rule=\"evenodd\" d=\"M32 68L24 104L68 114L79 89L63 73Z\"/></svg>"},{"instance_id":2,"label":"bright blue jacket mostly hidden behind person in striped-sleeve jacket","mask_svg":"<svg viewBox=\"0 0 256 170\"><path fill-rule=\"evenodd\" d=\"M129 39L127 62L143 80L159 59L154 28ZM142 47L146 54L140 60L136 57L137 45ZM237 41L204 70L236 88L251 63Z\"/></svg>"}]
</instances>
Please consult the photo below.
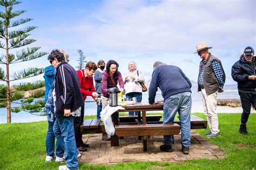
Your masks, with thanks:
<instances>
[{"instance_id":1,"label":"bright blue jacket mostly hidden behind person in striped-sleeve jacket","mask_svg":"<svg viewBox=\"0 0 256 170\"><path fill-rule=\"evenodd\" d=\"M48 100L48 94L52 86L54 67L52 65L44 69L45 103Z\"/></svg>"}]
</instances>

